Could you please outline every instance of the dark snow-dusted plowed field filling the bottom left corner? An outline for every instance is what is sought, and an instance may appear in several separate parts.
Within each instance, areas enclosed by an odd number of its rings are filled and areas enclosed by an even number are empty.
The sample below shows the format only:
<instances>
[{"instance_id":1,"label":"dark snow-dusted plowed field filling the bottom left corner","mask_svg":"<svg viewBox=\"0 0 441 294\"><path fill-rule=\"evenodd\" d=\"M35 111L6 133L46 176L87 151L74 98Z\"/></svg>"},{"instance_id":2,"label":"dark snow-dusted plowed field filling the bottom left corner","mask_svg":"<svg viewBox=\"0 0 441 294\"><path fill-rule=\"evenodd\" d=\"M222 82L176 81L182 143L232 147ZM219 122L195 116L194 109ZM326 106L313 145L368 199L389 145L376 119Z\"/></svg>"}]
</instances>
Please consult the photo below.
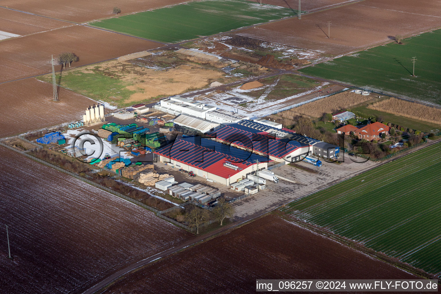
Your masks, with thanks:
<instances>
[{"instance_id":1,"label":"dark snow-dusted plowed field filling the bottom left corner","mask_svg":"<svg viewBox=\"0 0 441 294\"><path fill-rule=\"evenodd\" d=\"M2 293L82 293L193 236L152 212L0 147Z\"/></svg>"}]
</instances>

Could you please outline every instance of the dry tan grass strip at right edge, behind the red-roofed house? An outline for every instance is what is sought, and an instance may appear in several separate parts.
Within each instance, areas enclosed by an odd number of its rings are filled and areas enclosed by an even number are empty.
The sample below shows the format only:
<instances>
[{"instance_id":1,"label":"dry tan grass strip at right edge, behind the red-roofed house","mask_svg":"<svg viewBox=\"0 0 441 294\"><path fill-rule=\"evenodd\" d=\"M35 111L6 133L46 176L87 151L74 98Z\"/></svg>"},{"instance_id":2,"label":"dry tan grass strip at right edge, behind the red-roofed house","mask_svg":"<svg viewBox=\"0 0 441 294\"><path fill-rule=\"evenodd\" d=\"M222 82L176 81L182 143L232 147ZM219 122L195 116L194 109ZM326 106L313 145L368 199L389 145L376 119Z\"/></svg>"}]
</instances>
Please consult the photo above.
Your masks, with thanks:
<instances>
[{"instance_id":1,"label":"dry tan grass strip at right edge, behind the red-roofed house","mask_svg":"<svg viewBox=\"0 0 441 294\"><path fill-rule=\"evenodd\" d=\"M369 105L368 108L421 120L423 122L441 124L441 109L411 101L389 98L375 102Z\"/></svg>"}]
</instances>

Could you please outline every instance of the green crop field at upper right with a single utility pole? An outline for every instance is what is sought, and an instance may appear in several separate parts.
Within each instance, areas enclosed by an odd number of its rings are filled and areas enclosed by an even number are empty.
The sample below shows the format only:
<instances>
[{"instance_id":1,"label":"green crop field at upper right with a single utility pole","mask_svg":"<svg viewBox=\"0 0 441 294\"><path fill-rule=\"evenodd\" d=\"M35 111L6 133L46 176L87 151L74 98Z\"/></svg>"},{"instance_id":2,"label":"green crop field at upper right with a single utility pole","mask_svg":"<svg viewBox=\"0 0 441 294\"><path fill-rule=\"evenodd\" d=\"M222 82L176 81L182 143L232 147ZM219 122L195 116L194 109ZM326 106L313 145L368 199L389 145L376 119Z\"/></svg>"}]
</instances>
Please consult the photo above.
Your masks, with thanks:
<instances>
[{"instance_id":1,"label":"green crop field at upper right with a single utility pole","mask_svg":"<svg viewBox=\"0 0 441 294\"><path fill-rule=\"evenodd\" d=\"M441 104L441 30L306 67L301 72ZM416 56L415 75L412 57Z\"/></svg>"}]
</instances>

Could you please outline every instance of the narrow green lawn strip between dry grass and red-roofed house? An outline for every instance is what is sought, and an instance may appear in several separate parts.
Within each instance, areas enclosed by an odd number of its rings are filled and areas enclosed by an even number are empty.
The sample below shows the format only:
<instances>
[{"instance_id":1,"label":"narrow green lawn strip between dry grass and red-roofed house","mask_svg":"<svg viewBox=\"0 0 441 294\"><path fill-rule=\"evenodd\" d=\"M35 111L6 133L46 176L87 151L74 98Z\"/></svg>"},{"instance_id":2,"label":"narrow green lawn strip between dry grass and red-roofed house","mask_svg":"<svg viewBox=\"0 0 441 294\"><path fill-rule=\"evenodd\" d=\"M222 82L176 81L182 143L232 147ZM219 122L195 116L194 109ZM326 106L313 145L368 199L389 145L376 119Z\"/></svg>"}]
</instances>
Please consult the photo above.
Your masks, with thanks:
<instances>
[{"instance_id":1,"label":"narrow green lawn strip between dry grass and red-roofed house","mask_svg":"<svg viewBox=\"0 0 441 294\"><path fill-rule=\"evenodd\" d=\"M439 129L440 126L436 123L426 123L422 122L416 119L409 119L404 116L394 115L387 112L382 112L379 110L369 109L367 107L361 106L361 107L355 107L351 108L351 111L359 111L362 113L365 113L366 115L369 115L370 117L378 117L381 116L384 121L392 124L396 124L399 126L404 126L407 128L411 128L414 130L420 130L422 132L430 132L431 130Z\"/></svg>"}]
</instances>

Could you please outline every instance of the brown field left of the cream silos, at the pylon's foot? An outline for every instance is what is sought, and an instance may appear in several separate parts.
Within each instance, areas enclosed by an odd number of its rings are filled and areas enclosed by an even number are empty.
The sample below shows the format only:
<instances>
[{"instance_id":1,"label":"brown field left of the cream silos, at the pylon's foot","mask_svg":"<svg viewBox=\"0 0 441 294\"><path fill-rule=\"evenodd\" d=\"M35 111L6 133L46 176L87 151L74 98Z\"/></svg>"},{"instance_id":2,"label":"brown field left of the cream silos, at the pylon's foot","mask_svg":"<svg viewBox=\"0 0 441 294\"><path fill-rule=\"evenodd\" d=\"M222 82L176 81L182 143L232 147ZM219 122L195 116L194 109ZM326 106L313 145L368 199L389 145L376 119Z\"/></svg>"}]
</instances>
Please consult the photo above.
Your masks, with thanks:
<instances>
[{"instance_id":1,"label":"brown field left of the cream silos, at the pylon's foot","mask_svg":"<svg viewBox=\"0 0 441 294\"><path fill-rule=\"evenodd\" d=\"M95 103L63 88L58 95L59 101L54 102L52 84L34 78L0 85L0 100L4 108L0 119L0 138L82 119L86 108Z\"/></svg>"}]
</instances>

